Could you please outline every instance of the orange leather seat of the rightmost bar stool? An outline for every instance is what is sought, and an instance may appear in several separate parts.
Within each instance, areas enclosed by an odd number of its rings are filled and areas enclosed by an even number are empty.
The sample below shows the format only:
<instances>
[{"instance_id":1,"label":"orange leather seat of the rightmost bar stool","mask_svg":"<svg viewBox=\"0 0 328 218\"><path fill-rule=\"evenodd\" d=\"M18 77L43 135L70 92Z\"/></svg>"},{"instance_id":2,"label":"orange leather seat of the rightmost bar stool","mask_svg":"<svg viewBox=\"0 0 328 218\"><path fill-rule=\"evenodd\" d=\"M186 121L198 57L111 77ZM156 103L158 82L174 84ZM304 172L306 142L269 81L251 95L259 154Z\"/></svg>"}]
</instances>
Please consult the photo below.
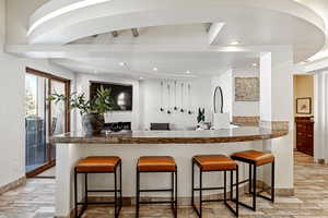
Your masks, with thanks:
<instances>
[{"instance_id":1,"label":"orange leather seat of the rightmost bar stool","mask_svg":"<svg viewBox=\"0 0 328 218\"><path fill-rule=\"evenodd\" d=\"M256 166L267 165L274 161L274 156L272 154L258 150L235 153L231 156L231 158L235 160L253 162Z\"/></svg>"}]
</instances>

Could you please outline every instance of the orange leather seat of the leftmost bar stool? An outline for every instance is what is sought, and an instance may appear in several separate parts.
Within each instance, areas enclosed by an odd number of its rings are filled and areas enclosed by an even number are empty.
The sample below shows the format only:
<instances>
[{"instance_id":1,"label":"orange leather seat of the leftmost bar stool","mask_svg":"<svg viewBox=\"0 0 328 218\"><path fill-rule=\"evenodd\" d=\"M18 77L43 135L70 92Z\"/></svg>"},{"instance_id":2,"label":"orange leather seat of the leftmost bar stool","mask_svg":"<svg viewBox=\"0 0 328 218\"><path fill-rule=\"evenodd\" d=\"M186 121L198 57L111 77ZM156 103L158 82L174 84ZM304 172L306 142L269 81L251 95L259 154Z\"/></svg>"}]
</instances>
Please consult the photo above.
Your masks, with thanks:
<instances>
[{"instance_id":1,"label":"orange leather seat of the leftmost bar stool","mask_svg":"<svg viewBox=\"0 0 328 218\"><path fill-rule=\"evenodd\" d=\"M119 157L115 156L92 156L80 160L75 165L77 172L114 172Z\"/></svg>"}]
</instances>

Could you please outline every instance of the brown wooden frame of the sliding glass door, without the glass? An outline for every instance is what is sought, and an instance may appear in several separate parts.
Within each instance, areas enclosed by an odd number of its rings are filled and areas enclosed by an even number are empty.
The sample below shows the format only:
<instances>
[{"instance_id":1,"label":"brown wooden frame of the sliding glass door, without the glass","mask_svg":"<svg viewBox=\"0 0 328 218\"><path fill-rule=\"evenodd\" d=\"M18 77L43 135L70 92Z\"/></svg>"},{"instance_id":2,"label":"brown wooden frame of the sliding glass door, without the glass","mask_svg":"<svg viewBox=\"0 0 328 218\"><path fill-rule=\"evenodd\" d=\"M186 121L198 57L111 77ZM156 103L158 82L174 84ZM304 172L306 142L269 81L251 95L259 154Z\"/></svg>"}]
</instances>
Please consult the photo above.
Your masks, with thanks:
<instances>
[{"instance_id":1,"label":"brown wooden frame of the sliding glass door, without the glass","mask_svg":"<svg viewBox=\"0 0 328 218\"><path fill-rule=\"evenodd\" d=\"M27 74L33 74L33 75L36 75L36 76L40 76L40 77L44 77L44 78L48 78L48 93L47 95L51 95L51 82L52 81L56 81L56 82L60 82L62 84L65 84L65 95L66 96L70 96L71 94L71 81L70 80L67 80L67 78L63 78L63 77L59 77L59 76L56 76L56 75L52 75L52 74L49 74L49 73L45 73L45 72L42 72L42 71L38 71L38 70L34 70L34 69L31 69L31 68L26 68L26 73ZM51 137L52 136L52 131L51 131L51 126L52 126L52 119L51 119L51 104L46 104L46 111L47 111L47 119L48 119L48 126L47 126L47 133L48 133L48 136ZM70 110L69 110L69 101L67 101L65 104L65 132L70 132L70 125L71 125L71 119L70 119ZM48 153L48 160L45 165L36 168L35 170L32 170L30 172L26 172L26 177L27 178L33 178L37 174L39 174L40 172L56 166L56 159L52 159L52 149L51 149L51 146L49 146L47 148L47 153Z\"/></svg>"}]
</instances>

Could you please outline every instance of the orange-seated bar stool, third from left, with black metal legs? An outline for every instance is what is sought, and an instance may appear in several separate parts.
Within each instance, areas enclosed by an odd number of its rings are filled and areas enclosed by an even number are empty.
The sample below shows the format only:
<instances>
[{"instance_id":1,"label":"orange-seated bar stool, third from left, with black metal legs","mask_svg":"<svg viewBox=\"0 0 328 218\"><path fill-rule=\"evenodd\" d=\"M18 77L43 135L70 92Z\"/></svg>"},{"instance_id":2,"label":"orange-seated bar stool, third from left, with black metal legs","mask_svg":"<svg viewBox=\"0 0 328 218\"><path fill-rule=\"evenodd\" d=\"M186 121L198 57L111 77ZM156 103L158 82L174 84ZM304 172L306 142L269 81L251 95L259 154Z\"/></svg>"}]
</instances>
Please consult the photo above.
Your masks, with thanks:
<instances>
[{"instance_id":1,"label":"orange-seated bar stool, third from left, with black metal legs","mask_svg":"<svg viewBox=\"0 0 328 218\"><path fill-rule=\"evenodd\" d=\"M199 189L195 187L195 165L199 167ZM202 186L202 174L203 172L213 172L213 171L223 171L224 172L224 186L222 187L203 187ZM231 175L231 196L230 199L226 198L226 171L230 171ZM233 174L236 171L236 198L233 199ZM204 202L224 202L225 206L236 216L238 217L238 165L231 158L224 155L197 155L192 157L192 194L191 194L191 205L197 213L198 217L202 217L202 203ZM224 190L223 199L202 199L202 191L209 190ZM200 197L200 208L197 209L195 205L195 191L199 191ZM232 206L227 203L227 201L235 202L236 208L233 209Z\"/></svg>"}]
</instances>

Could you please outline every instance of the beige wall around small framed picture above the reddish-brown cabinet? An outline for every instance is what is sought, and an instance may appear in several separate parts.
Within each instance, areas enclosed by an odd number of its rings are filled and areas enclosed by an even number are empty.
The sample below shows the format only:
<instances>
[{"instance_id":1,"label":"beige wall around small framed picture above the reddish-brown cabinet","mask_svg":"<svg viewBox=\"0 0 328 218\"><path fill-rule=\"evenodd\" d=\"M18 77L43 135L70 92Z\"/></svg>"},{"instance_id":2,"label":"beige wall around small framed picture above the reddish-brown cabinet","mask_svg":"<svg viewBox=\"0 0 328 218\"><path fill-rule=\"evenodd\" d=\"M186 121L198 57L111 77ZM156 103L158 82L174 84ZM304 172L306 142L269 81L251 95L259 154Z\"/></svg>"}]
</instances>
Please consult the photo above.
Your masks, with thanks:
<instances>
[{"instance_id":1,"label":"beige wall around small framed picture above the reddish-brown cabinet","mask_svg":"<svg viewBox=\"0 0 328 218\"><path fill-rule=\"evenodd\" d=\"M312 98L312 114L296 113L297 98ZM314 114L314 76L313 75L294 75L294 114L297 117Z\"/></svg>"}]
</instances>

